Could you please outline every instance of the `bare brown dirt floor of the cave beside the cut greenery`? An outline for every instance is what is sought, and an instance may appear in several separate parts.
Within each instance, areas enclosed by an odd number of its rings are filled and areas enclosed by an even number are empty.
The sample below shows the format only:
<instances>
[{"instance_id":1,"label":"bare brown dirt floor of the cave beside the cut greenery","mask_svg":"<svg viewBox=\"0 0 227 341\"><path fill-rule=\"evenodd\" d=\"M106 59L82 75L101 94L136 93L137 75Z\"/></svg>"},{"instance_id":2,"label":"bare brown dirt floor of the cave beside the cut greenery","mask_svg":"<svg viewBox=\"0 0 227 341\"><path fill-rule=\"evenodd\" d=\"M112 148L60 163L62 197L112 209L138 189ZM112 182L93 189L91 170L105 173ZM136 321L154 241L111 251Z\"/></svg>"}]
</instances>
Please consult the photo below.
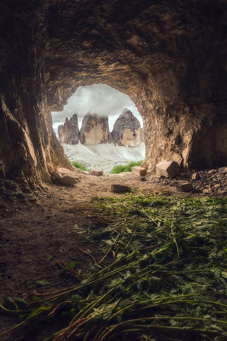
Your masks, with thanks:
<instances>
[{"instance_id":1,"label":"bare brown dirt floor of the cave beside the cut greenery","mask_svg":"<svg viewBox=\"0 0 227 341\"><path fill-rule=\"evenodd\" d=\"M98 248L86 238L83 225L88 223L87 219L68 211L75 206L86 206L95 195L125 195L111 192L111 184L128 185L135 193L189 195L179 192L174 186L158 183L158 178L151 173L144 182L132 173L101 177L84 174L83 177L75 187L47 185L35 202L29 200L29 196L26 200L15 200L13 194L0 197L0 303L7 297L26 297L34 288L38 292L54 291L77 283L71 275L63 276L55 261L65 264L78 261L81 262L81 271L87 271L91 259L80 252L78 246L90 251L97 260L102 257ZM35 282L40 280L51 285L35 286ZM3 316L0 332L12 323ZM42 334L40 337L42 339ZM37 338L34 336L29 340Z\"/></svg>"}]
</instances>

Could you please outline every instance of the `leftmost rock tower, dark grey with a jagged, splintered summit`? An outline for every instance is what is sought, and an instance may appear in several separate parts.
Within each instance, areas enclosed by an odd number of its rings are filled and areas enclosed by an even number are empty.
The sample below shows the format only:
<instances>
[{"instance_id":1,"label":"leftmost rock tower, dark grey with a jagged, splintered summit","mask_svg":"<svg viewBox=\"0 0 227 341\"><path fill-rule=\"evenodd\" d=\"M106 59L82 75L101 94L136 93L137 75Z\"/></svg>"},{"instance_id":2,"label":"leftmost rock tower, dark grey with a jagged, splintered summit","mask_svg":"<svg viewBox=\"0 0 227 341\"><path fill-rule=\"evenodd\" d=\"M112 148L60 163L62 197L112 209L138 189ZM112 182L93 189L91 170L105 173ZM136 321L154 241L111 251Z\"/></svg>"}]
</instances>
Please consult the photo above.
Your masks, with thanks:
<instances>
[{"instance_id":1,"label":"leftmost rock tower, dark grey with a jagged, splintered summit","mask_svg":"<svg viewBox=\"0 0 227 341\"><path fill-rule=\"evenodd\" d=\"M80 131L77 114L72 115L68 120L66 117L64 125L58 126L58 139L60 142L77 145L79 143Z\"/></svg>"}]
</instances>

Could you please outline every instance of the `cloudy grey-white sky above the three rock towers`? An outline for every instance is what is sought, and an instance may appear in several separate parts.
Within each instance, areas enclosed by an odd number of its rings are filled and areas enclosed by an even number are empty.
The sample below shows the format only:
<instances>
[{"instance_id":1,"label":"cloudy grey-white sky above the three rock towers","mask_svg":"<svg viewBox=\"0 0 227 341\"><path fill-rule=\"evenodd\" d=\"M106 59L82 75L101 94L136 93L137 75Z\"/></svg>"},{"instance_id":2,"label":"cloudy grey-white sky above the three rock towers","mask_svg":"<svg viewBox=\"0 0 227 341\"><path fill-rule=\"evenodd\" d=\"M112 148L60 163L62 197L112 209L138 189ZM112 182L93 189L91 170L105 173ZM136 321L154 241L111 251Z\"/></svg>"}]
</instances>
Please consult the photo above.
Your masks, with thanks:
<instances>
[{"instance_id":1,"label":"cloudy grey-white sky above the three rock towers","mask_svg":"<svg viewBox=\"0 0 227 341\"><path fill-rule=\"evenodd\" d=\"M58 136L58 126L65 122L66 117L69 119L73 114L77 114L80 129L83 117L90 112L100 116L108 116L109 128L112 131L114 122L125 108L131 110L133 115L140 121L141 127L143 127L142 117L128 95L106 84L80 86L70 97L62 111L51 113L53 128Z\"/></svg>"}]
</instances>

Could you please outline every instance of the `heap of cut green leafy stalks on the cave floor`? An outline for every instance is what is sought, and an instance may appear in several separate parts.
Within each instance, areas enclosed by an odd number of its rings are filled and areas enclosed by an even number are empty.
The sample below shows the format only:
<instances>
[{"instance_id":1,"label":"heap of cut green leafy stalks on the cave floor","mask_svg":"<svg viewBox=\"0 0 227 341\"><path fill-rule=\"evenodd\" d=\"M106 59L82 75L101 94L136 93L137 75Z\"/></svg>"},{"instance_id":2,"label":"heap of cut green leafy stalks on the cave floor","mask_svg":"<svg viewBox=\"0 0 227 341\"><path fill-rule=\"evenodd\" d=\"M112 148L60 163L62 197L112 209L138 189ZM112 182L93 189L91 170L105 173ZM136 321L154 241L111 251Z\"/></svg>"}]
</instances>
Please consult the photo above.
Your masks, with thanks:
<instances>
[{"instance_id":1,"label":"heap of cut green leafy stalks on the cave floor","mask_svg":"<svg viewBox=\"0 0 227 341\"><path fill-rule=\"evenodd\" d=\"M34 294L14 329L56 319L47 340L226 340L226 204L129 194L75 209L103 258L79 284Z\"/></svg>"}]
</instances>

